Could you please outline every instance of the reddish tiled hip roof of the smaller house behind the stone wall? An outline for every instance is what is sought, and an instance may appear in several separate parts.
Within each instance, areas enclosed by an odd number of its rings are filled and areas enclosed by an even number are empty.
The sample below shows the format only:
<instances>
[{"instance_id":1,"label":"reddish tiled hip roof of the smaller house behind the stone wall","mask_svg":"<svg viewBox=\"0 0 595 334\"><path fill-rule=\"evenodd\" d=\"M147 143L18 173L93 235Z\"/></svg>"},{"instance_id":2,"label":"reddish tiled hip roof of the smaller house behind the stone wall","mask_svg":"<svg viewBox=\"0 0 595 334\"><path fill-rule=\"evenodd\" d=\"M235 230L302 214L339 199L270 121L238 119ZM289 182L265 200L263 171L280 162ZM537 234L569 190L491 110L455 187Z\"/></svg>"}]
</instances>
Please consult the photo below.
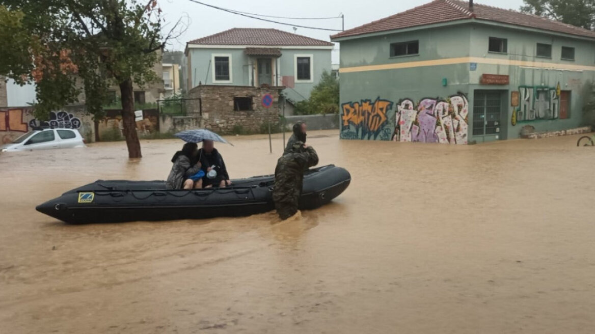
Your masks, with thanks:
<instances>
[{"instance_id":1,"label":"reddish tiled hip roof of the smaller house behind the stone wall","mask_svg":"<svg viewBox=\"0 0 595 334\"><path fill-rule=\"evenodd\" d=\"M333 46L333 43L277 29L233 28L191 40L204 45Z\"/></svg>"}]
</instances>

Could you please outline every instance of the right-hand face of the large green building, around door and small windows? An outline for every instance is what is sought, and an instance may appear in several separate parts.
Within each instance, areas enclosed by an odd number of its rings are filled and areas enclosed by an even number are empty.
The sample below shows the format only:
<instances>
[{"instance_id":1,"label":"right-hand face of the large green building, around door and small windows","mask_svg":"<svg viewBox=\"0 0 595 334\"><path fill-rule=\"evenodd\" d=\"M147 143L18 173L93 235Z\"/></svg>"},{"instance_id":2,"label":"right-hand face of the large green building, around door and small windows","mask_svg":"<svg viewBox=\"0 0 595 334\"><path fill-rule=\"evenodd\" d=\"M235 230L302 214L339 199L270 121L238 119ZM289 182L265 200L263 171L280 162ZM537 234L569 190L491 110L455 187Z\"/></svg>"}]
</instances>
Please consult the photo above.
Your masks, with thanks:
<instances>
[{"instance_id":1,"label":"right-hand face of the large green building, around door and small windows","mask_svg":"<svg viewBox=\"0 0 595 334\"><path fill-rule=\"evenodd\" d=\"M500 54L488 52L489 37L508 39L508 53ZM552 58L541 58L536 55L537 43L552 45ZM537 132L559 131L585 125L583 119L583 106L589 99L590 85L595 80L595 43L589 40L573 39L569 37L554 36L546 33L504 29L502 27L489 27L474 25L471 28L471 56L477 58L494 59L500 62L513 61L534 64L533 66L477 64L477 70L469 71L469 102L474 104L475 90L493 89L502 93L502 131L499 139L519 138L520 128L523 125L533 126ZM575 60L561 59L562 46L575 48ZM555 69L562 65L564 69ZM491 86L480 84L482 74L509 75L510 84L504 86ZM518 119L512 125L512 115L519 115L521 107L511 106L511 92L528 94L527 99L533 100L536 90L547 89L555 92L560 85L560 90L571 92L569 118L567 119ZM524 91L524 89L527 89ZM522 97L522 96L521 96ZM552 102L556 102L553 100ZM535 103L530 103L530 109L535 109ZM558 106L559 109L559 106ZM559 110L556 110L559 112ZM474 122L473 113L469 113L469 124ZM472 136L472 133L469 133ZM477 141L493 140L495 138L474 138Z\"/></svg>"}]
</instances>

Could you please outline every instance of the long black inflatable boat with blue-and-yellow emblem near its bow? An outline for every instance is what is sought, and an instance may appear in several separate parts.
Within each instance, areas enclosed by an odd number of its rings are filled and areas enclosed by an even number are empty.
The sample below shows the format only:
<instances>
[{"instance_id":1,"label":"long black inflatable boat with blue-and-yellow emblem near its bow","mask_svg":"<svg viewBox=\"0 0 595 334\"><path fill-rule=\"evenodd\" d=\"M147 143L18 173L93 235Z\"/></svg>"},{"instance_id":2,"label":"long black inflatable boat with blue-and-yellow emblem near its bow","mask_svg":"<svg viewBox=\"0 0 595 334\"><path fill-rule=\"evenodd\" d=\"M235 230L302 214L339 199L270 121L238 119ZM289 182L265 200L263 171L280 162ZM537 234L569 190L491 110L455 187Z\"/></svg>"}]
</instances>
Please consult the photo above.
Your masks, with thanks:
<instances>
[{"instance_id":1,"label":"long black inflatable boat with blue-and-yellow emblem near its bow","mask_svg":"<svg viewBox=\"0 0 595 334\"><path fill-rule=\"evenodd\" d=\"M316 209L349 186L346 169L311 169L303 178L300 209ZM274 209L274 175L232 180L233 187L166 190L165 181L95 181L36 207L67 223L249 216Z\"/></svg>"}]
</instances>

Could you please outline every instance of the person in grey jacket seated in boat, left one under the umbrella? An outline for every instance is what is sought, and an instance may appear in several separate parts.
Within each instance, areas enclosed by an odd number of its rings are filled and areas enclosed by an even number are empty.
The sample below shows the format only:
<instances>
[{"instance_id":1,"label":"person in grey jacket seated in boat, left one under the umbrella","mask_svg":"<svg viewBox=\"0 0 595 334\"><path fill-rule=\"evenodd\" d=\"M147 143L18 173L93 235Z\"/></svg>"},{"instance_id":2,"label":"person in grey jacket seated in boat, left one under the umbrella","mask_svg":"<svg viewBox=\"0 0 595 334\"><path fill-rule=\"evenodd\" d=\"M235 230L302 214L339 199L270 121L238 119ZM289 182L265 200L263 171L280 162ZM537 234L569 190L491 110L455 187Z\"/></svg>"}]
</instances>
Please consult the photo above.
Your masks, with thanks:
<instances>
[{"instance_id":1,"label":"person in grey jacket seated in boat, left one under the umbrella","mask_svg":"<svg viewBox=\"0 0 595 334\"><path fill-rule=\"evenodd\" d=\"M202 188L202 177L205 173L201 169L201 162L198 159L198 145L186 143L181 151L176 152L171 162L170 175L167 177L165 187L167 189L192 189Z\"/></svg>"}]
</instances>

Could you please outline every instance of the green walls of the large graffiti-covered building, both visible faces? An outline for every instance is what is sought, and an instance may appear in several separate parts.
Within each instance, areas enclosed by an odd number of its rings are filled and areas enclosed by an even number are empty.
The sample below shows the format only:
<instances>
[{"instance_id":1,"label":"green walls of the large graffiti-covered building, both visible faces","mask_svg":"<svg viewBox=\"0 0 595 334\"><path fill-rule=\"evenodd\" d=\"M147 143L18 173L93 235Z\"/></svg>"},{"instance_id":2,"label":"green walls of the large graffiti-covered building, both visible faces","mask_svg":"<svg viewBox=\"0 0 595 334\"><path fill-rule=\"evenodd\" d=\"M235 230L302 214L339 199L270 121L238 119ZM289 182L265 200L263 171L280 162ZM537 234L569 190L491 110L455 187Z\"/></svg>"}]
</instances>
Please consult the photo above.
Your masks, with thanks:
<instances>
[{"instance_id":1,"label":"green walls of the large graffiti-covered building, both visible faces","mask_svg":"<svg viewBox=\"0 0 595 334\"><path fill-rule=\"evenodd\" d=\"M488 37L508 39L508 53L488 52ZM391 43L409 40L419 40L419 55L390 57ZM538 42L553 45L552 59L536 57ZM562 46L575 48L575 61L560 59ZM576 128L584 124L582 108L595 80L594 53L590 40L471 23L344 40L341 137L466 144L519 138L524 124L538 132ZM509 75L510 84L481 84L483 74ZM513 122L513 115L540 115L536 110L547 106L559 115L558 84L571 92L568 119ZM549 104L537 101L542 89L552 94ZM495 134L473 136L474 121L485 121L473 116L476 91L499 94ZM512 92L529 101L526 110L511 106Z\"/></svg>"}]
</instances>

